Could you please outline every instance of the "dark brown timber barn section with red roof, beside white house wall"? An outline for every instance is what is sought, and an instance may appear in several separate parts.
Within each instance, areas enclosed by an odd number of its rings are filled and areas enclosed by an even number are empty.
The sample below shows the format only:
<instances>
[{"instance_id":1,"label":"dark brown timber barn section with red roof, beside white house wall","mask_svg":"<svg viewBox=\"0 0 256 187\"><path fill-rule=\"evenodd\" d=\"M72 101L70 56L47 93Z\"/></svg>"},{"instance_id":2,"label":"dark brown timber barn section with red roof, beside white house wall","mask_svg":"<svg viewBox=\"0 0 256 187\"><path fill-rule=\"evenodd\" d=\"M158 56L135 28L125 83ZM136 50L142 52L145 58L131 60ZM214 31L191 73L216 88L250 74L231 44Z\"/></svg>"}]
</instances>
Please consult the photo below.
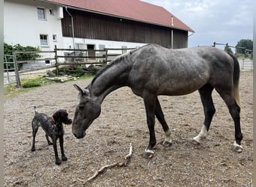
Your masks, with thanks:
<instances>
[{"instance_id":1,"label":"dark brown timber barn section with red roof, beside white house wall","mask_svg":"<svg viewBox=\"0 0 256 187\"><path fill-rule=\"evenodd\" d=\"M157 43L167 48L188 46L188 32L194 32L176 16L154 4L138 0L51 0L63 6L63 37L125 43ZM83 40L84 41L84 40ZM106 43L106 42L105 42ZM99 44L106 46L104 42ZM137 44L138 45L138 44ZM88 44L85 48L97 47Z\"/></svg>"}]
</instances>

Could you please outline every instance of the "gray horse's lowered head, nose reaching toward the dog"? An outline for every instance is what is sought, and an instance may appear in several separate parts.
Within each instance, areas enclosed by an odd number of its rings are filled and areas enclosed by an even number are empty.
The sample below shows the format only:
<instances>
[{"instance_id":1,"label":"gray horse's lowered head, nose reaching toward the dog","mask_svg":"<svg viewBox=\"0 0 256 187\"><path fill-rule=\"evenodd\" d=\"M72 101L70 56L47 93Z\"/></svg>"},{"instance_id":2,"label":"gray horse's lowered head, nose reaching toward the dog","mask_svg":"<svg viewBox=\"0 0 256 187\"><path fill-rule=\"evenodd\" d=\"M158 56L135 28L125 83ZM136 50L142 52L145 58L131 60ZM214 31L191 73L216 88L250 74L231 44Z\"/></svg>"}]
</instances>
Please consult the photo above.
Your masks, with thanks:
<instances>
[{"instance_id":1,"label":"gray horse's lowered head, nose reaching toward the dog","mask_svg":"<svg viewBox=\"0 0 256 187\"><path fill-rule=\"evenodd\" d=\"M79 102L72 123L72 132L76 138L84 138L85 131L91 123L100 115L100 104L90 98L87 89L82 89L78 85L73 85L79 91Z\"/></svg>"}]
</instances>

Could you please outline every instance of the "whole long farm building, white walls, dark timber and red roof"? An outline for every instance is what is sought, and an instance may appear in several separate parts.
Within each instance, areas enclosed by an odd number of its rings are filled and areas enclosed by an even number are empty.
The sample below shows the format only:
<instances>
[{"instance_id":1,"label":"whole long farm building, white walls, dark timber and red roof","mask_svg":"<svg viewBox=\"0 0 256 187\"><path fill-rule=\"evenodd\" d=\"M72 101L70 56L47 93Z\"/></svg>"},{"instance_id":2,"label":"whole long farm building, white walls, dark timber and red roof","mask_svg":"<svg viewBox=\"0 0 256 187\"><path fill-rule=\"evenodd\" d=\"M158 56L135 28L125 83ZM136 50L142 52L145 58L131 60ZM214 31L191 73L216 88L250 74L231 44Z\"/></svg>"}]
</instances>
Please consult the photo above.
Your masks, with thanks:
<instances>
[{"instance_id":1,"label":"whole long farm building, white walls, dark timber and red roof","mask_svg":"<svg viewBox=\"0 0 256 187\"><path fill-rule=\"evenodd\" d=\"M172 13L139 0L4 0L4 42L58 48L188 46L192 28ZM49 63L51 64L51 63Z\"/></svg>"}]
</instances>

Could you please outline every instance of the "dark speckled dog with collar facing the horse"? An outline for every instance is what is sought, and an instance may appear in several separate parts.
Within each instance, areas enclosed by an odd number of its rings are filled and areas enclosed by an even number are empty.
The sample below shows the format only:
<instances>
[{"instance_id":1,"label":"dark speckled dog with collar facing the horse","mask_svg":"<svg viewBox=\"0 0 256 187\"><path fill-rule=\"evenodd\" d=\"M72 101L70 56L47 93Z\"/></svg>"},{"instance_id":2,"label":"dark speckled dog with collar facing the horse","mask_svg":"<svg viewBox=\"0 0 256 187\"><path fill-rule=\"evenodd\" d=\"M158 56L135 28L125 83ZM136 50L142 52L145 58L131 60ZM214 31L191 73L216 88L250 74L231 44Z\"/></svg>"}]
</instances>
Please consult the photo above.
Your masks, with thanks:
<instances>
[{"instance_id":1,"label":"dark speckled dog with collar facing the horse","mask_svg":"<svg viewBox=\"0 0 256 187\"><path fill-rule=\"evenodd\" d=\"M61 160L58 158L58 151L57 151L57 139L59 138L60 141L60 147L61 147L61 159L62 161L67 161L67 157L64 154L64 128L62 123L64 124L71 124L72 120L68 118L67 110L60 109L55 112L55 114L52 115L52 117L49 117L46 114L38 113L37 107L34 106L34 118L31 122L32 130L33 130L33 144L31 151L35 150L34 144L35 144L35 136L37 134L37 130L39 126L42 127L44 132L46 132L46 140L49 145L53 145L53 150L55 153L55 164L61 165ZM49 137L52 138L52 142L49 141Z\"/></svg>"}]
</instances>

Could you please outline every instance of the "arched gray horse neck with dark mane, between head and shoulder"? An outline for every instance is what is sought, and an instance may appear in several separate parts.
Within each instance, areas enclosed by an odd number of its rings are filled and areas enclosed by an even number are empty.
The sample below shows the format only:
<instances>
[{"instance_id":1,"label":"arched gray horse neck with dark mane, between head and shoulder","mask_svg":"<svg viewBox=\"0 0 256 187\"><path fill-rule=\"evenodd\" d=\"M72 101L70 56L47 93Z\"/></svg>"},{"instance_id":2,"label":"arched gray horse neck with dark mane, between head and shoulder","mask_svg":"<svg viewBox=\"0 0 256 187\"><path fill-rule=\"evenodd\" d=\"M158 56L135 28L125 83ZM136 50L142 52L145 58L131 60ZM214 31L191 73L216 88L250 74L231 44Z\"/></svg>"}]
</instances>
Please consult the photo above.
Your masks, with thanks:
<instances>
[{"instance_id":1,"label":"arched gray horse neck with dark mane, between head and shoulder","mask_svg":"<svg viewBox=\"0 0 256 187\"><path fill-rule=\"evenodd\" d=\"M109 93L127 86L131 68L132 63L127 58L127 55L107 65L94 77L89 85L90 97L101 104Z\"/></svg>"}]
</instances>

